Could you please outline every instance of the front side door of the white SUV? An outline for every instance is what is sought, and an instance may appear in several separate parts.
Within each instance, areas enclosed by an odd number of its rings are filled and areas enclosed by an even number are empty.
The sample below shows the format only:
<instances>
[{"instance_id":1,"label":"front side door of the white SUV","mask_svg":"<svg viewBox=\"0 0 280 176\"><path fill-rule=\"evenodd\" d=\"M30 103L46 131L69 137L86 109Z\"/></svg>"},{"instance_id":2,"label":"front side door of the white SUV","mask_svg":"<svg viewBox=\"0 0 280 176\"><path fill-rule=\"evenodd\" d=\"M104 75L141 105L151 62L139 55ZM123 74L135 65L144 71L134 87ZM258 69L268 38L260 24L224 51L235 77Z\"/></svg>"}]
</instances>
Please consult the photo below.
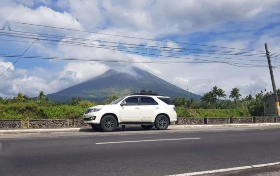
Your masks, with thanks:
<instances>
[{"instance_id":1,"label":"front side door of the white SUV","mask_svg":"<svg viewBox=\"0 0 280 176\"><path fill-rule=\"evenodd\" d=\"M120 120L122 122L127 122L127 121L140 122L141 115L140 115L139 97L129 97L123 102L126 103L125 105L121 105L119 108Z\"/></svg>"}]
</instances>

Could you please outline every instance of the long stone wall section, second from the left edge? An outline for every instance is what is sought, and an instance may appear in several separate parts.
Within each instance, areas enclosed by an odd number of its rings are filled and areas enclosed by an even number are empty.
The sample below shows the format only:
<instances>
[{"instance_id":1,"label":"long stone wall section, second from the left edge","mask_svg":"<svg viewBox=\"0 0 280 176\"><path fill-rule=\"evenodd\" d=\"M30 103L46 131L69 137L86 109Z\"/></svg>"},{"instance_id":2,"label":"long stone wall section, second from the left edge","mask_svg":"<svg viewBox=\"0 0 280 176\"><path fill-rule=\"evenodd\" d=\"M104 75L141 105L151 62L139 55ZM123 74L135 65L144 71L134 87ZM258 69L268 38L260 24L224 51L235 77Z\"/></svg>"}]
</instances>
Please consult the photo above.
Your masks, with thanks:
<instances>
[{"instance_id":1,"label":"long stone wall section, second from the left edge","mask_svg":"<svg viewBox=\"0 0 280 176\"><path fill-rule=\"evenodd\" d=\"M68 119L43 119L43 120L29 120L28 128L60 128L69 127Z\"/></svg>"}]
</instances>

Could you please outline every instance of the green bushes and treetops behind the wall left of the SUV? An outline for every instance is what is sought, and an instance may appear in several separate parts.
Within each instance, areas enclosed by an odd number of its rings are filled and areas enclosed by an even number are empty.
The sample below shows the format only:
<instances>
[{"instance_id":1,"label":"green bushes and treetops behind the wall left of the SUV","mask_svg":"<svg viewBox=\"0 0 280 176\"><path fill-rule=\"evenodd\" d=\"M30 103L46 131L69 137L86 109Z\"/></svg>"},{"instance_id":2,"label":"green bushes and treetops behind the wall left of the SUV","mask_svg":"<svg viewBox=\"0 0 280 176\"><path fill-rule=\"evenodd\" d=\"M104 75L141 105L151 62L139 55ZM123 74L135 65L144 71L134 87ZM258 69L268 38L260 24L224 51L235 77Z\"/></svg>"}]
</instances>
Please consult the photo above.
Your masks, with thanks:
<instances>
[{"instance_id":1,"label":"green bushes and treetops behind the wall left of the SUV","mask_svg":"<svg viewBox=\"0 0 280 176\"><path fill-rule=\"evenodd\" d=\"M21 97L21 95L18 97ZM20 99L4 101L0 98L0 118L23 120L82 118L85 108L92 106L96 106L96 104L90 101L81 101L77 98L73 98L70 102L64 104L50 102L44 96L27 101Z\"/></svg>"}]
</instances>

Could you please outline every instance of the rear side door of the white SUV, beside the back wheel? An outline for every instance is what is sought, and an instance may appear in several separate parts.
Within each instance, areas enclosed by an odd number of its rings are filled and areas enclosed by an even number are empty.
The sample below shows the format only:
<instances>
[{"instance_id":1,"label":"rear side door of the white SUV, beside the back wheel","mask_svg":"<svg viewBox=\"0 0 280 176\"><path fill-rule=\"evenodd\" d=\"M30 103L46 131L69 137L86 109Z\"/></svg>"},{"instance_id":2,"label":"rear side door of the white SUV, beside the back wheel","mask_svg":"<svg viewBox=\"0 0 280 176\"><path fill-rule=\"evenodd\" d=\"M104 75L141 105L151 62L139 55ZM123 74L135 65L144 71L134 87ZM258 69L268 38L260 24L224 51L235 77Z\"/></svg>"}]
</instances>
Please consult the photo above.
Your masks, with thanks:
<instances>
[{"instance_id":1,"label":"rear side door of the white SUV, beside the back wheel","mask_svg":"<svg viewBox=\"0 0 280 176\"><path fill-rule=\"evenodd\" d=\"M140 114L142 121L152 121L152 116L159 109L158 103L151 97L140 97Z\"/></svg>"}]
</instances>

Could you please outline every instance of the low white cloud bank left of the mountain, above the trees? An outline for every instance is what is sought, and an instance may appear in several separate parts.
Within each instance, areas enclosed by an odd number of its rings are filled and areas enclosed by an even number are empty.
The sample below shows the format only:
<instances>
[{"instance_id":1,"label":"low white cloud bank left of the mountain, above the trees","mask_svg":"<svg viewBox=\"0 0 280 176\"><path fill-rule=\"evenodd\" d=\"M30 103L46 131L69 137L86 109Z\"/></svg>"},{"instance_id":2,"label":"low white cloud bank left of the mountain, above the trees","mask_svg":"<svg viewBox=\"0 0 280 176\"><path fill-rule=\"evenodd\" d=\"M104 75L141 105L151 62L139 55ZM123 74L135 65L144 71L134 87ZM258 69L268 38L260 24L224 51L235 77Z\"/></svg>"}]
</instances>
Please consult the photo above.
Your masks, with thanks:
<instances>
[{"instance_id":1,"label":"low white cloud bank left of the mountain, above the trees","mask_svg":"<svg viewBox=\"0 0 280 176\"><path fill-rule=\"evenodd\" d=\"M0 59L0 72L3 72L10 64L10 62L4 62ZM29 72L34 72L32 69L28 71L12 67L11 70L8 70L1 76L0 96L13 97L21 92L34 97L39 91L49 94L94 78L108 69L107 66L97 62L69 62L58 73L52 73L51 70L43 68L34 68L35 71L50 74L48 75L51 77L50 79L47 77L31 76Z\"/></svg>"}]
</instances>

